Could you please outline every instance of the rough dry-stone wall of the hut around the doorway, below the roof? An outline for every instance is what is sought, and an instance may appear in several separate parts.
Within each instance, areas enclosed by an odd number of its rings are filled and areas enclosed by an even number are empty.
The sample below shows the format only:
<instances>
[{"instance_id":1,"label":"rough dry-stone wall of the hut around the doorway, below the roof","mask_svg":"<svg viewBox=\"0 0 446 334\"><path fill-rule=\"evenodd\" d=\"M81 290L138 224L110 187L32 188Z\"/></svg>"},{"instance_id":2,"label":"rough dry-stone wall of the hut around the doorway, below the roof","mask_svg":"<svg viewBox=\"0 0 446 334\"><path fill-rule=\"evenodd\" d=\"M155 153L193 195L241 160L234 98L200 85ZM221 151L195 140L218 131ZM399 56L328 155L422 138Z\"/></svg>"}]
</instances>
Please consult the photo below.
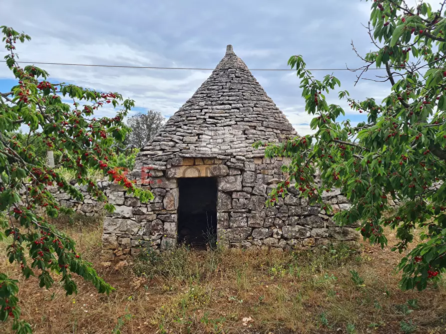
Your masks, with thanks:
<instances>
[{"instance_id":1,"label":"rough dry-stone wall of the hut around the doorway, below the roof","mask_svg":"<svg viewBox=\"0 0 446 334\"><path fill-rule=\"evenodd\" d=\"M218 180L217 238L231 247L291 249L337 240L355 240L354 227L337 227L318 206L299 198L294 187L276 205L265 207L268 193L283 179L283 161L267 158L172 158L159 165L136 166L137 184L155 198L142 204L111 184L116 206L104 219L103 256L123 259L141 247L164 249L176 244L179 177L212 176ZM137 171L140 169L140 171ZM349 207L338 190L324 194L335 212Z\"/></svg>"}]
</instances>

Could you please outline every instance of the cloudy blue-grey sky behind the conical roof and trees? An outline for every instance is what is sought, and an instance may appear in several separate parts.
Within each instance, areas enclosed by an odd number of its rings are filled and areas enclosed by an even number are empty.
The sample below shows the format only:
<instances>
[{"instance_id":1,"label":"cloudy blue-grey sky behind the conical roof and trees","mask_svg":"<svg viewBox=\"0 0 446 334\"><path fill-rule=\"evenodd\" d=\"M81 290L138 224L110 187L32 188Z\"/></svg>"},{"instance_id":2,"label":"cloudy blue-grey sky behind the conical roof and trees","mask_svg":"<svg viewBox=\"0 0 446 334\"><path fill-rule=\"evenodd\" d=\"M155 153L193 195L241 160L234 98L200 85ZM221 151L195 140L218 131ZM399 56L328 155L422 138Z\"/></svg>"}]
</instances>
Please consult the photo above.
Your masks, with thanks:
<instances>
[{"instance_id":1,"label":"cloudy blue-grey sky behind the conical roof and trees","mask_svg":"<svg viewBox=\"0 0 446 334\"><path fill-rule=\"evenodd\" d=\"M44 4L43 4L44 3ZM249 68L287 68L294 54L301 54L308 68L350 68L363 62L361 54L372 49L367 30L371 2L360 0L17 0L23 15L0 11L0 25L31 36L16 45L19 60L161 67L215 68L232 44ZM5 49L0 49L1 58ZM67 82L99 91L119 92L135 100L133 113L152 109L166 118L173 115L197 90L211 71L93 68L38 65L51 82ZM389 94L389 83L361 80L349 71L313 72L317 78L334 73L351 97ZM375 78L382 71L370 71ZM311 133L312 116L305 112L294 72L253 71L267 94L285 113L300 135ZM14 85L0 63L0 92ZM352 124L365 120L351 112L348 103L328 97L348 112ZM98 116L112 116L104 109Z\"/></svg>"}]
</instances>

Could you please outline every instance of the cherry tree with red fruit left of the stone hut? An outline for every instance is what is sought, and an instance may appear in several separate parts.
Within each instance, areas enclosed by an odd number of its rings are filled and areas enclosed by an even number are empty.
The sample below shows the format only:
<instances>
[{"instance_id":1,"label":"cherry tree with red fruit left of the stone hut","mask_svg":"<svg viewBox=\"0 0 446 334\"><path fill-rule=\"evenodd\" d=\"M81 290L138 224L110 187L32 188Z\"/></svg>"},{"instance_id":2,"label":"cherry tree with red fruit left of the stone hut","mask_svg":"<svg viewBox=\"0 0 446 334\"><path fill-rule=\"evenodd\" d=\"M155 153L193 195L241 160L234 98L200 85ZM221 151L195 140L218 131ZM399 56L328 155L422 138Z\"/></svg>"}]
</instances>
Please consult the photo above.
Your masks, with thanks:
<instances>
[{"instance_id":1,"label":"cherry tree with red fruit left of the stone hut","mask_svg":"<svg viewBox=\"0 0 446 334\"><path fill-rule=\"evenodd\" d=\"M113 288L76 252L74 241L47 220L60 213L72 213L58 204L49 186L57 186L78 200L83 199L82 194L57 168L48 167L45 157L33 153L29 138L39 133L48 150L60 152L61 165L75 171L78 184L87 185L93 198L107 201L88 169L102 172L104 177L146 202L153 195L135 187L114 168L116 158L110 148L129 133L122 120L134 102L123 100L118 93L50 82L48 73L36 66L20 67L16 61L16 43L30 37L6 26L0 28L8 51L4 57L6 65L18 80L10 91L0 93L0 239L10 240L9 262L17 263L24 278L37 276L41 288L49 288L56 277L68 295L76 293L72 275L77 274L100 293L108 294ZM116 116L94 117L107 104L117 110ZM18 133L23 128L25 135ZM105 208L114 209L108 203ZM0 320L11 319L12 329L17 333L30 333L29 324L19 319L17 283L0 273Z\"/></svg>"}]
</instances>

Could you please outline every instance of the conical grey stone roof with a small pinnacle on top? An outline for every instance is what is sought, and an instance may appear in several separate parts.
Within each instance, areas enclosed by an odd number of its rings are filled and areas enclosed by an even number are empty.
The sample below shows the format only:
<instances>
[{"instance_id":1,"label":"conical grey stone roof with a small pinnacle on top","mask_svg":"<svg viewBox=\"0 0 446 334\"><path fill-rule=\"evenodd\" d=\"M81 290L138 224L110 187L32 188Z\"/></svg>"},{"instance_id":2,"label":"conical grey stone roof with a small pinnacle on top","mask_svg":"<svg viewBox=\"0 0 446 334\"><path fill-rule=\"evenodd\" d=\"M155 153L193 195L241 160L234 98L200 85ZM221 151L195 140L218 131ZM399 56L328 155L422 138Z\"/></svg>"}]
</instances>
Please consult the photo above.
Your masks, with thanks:
<instances>
[{"instance_id":1,"label":"conical grey stone roof with a small pinnacle on top","mask_svg":"<svg viewBox=\"0 0 446 334\"><path fill-rule=\"evenodd\" d=\"M232 45L209 78L138 154L144 164L173 157L261 157L254 142L277 142L297 133ZM155 165L158 165L155 163Z\"/></svg>"}]
</instances>

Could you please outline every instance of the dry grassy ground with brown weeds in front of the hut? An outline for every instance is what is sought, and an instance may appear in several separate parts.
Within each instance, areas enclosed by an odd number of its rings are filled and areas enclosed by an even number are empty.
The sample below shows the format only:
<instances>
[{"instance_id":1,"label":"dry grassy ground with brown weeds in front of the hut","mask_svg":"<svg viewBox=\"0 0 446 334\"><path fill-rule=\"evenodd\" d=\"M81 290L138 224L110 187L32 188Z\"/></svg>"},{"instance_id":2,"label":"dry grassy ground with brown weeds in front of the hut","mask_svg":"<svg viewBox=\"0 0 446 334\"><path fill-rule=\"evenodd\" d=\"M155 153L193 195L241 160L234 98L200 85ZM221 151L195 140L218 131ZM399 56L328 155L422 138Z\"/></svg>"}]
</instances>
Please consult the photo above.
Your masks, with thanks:
<instances>
[{"instance_id":1,"label":"dry grassy ground with brown weeds in front of the hut","mask_svg":"<svg viewBox=\"0 0 446 334\"><path fill-rule=\"evenodd\" d=\"M0 271L19 278L22 317L34 333L446 333L446 280L402 292L401 255L368 244L299 252L189 250L145 253L103 268L99 221L59 222L84 258L116 288L77 279L78 294L19 276L0 247ZM10 333L10 323L0 333Z\"/></svg>"}]
</instances>

